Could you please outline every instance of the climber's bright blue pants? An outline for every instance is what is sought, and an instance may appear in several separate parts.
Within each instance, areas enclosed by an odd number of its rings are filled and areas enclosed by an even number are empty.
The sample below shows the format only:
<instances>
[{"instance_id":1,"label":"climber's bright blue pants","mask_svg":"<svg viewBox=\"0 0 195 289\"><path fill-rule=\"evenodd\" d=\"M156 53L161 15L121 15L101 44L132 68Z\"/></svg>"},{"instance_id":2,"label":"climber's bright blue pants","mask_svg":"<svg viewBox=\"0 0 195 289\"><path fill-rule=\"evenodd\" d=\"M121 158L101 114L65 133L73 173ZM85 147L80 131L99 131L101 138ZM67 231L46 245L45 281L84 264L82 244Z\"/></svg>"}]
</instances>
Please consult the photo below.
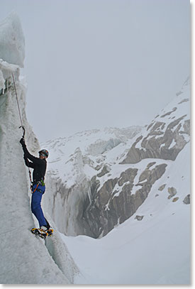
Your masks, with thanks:
<instances>
[{"instance_id":1,"label":"climber's bright blue pants","mask_svg":"<svg viewBox=\"0 0 195 289\"><path fill-rule=\"evenodd\" d=\"M37 185L33 185L32 191L35 190L35 187ZM41 192L39 192L40 190ZM32 199L31 199L31 211L35 215L35 217L38 219L39 226L45 226L47 227L47 222L45 221L45 217L43 215L43 211L40 206L40 202L42 199L42 196L45 192L45 186L38 185L37 190L33 192Z\"/></svg>"}]
</instances>

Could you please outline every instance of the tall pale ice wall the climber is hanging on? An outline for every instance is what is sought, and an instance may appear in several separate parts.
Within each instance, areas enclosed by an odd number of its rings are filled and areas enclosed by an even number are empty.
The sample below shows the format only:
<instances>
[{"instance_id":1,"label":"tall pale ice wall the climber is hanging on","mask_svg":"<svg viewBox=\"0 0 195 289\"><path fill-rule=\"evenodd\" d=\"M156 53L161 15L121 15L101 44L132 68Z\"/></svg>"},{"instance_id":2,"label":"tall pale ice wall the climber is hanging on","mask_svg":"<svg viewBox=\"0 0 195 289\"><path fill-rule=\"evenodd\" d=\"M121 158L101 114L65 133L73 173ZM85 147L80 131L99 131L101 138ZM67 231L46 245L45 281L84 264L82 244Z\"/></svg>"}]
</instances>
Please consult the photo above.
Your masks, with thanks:
<instances>
[{"instance_id":1,"label":"tall pale ice wall the climber is hanging on","mask_svg":"<svg viewBox=\"0 0 195 289\"><path fill-rule=\"evenodd\" d=\"M0 55L3 58L0 62L0 282L3 284L68 284L74 279L72 259L64 261L62 270L55 263L55 258L59 260L60 257L56 254L52 256L44 240L30 233L30 229L35 224L30 212L28 175L19 143L22 130L18 129L21 122L13 77L16 80L18 102L30 152L36 154L39 144L26 119L26 87L19 81L19 67L13 65L18 59L18 65L22 66L24 47L21 24L16 14L13 13L12 17L9 16L8 21L0 24ZM9 42L9 36L6 34L11 29L15 31L12 43ZM9 64L8 60L12 63ZM54 249L56 246L62 247L59 238L53 241L50 247ZM50 242L52 243L52 239ZM69 255L65 247L63 250ZM68 275L65 266L69 267Z\"/></svg>"}]
</instances>

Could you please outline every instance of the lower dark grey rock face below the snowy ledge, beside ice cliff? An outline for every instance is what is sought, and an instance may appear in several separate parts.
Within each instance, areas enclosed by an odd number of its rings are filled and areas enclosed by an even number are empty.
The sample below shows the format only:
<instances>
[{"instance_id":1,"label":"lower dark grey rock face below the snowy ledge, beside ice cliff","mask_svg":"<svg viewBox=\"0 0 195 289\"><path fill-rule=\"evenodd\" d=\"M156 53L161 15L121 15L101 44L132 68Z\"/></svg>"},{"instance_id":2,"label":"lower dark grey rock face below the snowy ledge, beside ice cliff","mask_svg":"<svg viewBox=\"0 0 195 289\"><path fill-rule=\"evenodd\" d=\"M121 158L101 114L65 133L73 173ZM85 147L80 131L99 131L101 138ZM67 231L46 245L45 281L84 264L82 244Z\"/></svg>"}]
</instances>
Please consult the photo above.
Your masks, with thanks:
<instances>
[{"instance_id":1,"label":"lower dark grey rock face below the snowy ledge, beside ice cliff","mask_svg":"<svg viewBox=\"0 0 195 289\"><path fill-rule=\"evenodd\" d=\"M117 224L126 221L143 204L152 185L162 177L166 167L167 164L162 163L150 170L147 165L137 184L134 180L138 169L128 168L119 178L107 180L99 190L99 182L94 178L91 184L94 185L91 203L86 200L84 205L86 209L82 216L85 234L98 238L100 235L108 234ZM132 195L134 186L141 186L141 188Z\"/></svg>"}]
</instances>

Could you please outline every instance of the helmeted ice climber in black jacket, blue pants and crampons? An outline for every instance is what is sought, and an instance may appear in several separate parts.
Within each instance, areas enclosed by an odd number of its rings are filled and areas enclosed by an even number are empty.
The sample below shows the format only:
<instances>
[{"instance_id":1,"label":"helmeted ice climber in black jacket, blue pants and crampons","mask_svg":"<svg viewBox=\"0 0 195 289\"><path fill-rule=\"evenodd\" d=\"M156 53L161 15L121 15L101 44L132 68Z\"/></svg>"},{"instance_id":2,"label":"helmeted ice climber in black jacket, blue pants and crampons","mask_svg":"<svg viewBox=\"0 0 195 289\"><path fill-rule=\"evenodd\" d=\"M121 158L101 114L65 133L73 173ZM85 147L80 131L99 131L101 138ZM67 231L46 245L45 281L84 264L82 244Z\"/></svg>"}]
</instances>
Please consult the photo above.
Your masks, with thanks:
<instances>
[{"instance_id":1,"label":"helmeted ice climber in black jacket, blue pants and crampons","mask_svg":"<svg viewBox=\"0 0 195 289\"><path fill-rule=\"evenodd\" d=\"M31 155L26 148L26 143L24 138L21 138L20 141L23 147L24 160L28 168L33 168L33 183L31 185L32 190L32 199L31 199L31 210L35 217L38 219L40 228L31 229L33 234L38 234L39 236L45 239L46 236L52 234L52 229L50 229L50 224L47 219L45 219L43 210L41 208L40 202L45 192L45 172L47 168L48 151L43 149L39 151L39 158Z\"/></svg>"}]
</instances>

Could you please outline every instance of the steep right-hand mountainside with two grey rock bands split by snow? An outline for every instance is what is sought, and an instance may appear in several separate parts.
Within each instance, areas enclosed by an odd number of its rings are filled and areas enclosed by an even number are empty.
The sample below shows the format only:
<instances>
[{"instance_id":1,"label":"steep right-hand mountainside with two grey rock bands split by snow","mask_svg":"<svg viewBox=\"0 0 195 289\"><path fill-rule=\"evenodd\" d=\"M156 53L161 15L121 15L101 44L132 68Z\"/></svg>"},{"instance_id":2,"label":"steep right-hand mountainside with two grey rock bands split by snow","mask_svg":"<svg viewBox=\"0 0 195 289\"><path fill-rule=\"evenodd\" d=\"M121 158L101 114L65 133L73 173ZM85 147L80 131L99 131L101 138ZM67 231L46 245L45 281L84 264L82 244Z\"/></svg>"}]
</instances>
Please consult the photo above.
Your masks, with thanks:
<instances>
[{"instance_id":1,"label":"steep right-hand mountainside with two grey rock bands split by snow","mask_svg":"<svg viewBox=\"0 0 195 289\"><path fill-rule=\"evenodd\" d=\"M84 226L93 236L104 236L134 214L157 180L164 185L165 172L189 140L188 79L179 95L143 129L103 180L96 175L96 192L83 214ZM177 192L173 186L169 191Z\"/></svg>"}]
</instances>

